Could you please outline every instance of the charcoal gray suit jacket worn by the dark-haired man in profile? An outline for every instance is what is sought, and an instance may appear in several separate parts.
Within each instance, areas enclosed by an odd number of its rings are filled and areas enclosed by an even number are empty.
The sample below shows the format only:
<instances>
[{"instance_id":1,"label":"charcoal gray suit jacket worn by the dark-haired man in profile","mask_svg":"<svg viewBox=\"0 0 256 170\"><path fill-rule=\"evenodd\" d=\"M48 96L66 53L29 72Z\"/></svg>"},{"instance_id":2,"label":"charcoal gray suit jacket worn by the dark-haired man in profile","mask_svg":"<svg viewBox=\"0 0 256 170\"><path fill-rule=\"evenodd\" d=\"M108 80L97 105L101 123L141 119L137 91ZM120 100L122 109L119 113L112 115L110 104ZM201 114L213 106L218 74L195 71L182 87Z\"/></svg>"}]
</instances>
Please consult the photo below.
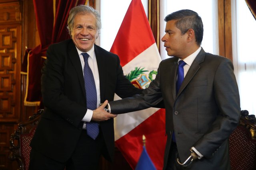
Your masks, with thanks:
<instances>
[{"instance_id":1,"label":"charcoal gray suit jacket worn by the dark-haired man in profile","mask_svg":"<svg viewBox=\"0 0 256 170\"><path fill-rule=\"evenodd\" d=\"M188 169L230 169L228 137L240 119L240 98L232 62L202 49L178 94L177 68L178 58L163 60L149 88L133 98L110 102L111 112L126 113L154 107L164 100L168 138L163 169L166 168L173 131L182 162L190 155L191 147L204 156Z\"/></svg>"}]
</instances>

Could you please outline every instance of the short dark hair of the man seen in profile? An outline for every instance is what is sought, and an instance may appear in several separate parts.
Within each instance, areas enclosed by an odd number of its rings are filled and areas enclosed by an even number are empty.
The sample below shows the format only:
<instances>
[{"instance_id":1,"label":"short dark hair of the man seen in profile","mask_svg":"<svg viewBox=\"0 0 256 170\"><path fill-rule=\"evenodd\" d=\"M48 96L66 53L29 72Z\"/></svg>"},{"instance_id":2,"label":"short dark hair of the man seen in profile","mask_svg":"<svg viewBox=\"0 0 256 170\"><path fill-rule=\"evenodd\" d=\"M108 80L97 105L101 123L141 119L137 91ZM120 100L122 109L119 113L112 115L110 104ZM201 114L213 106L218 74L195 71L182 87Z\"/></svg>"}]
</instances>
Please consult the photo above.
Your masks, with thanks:
<instances>
[{"instance_id":1,"label":"short dark hair of the man seen in profile","mask_svg":"<svg viewBox=\"0 0 256 170\"><path fill-rule=\"evenodd\" d=\"M179 10L167 15L164 21L177 20L176 27L180 29L182 34L188 29L193 29L196 36L197 45L201 45L204 35L204 25L198 14L192 10Z\"/></svg>"}]
</instances>

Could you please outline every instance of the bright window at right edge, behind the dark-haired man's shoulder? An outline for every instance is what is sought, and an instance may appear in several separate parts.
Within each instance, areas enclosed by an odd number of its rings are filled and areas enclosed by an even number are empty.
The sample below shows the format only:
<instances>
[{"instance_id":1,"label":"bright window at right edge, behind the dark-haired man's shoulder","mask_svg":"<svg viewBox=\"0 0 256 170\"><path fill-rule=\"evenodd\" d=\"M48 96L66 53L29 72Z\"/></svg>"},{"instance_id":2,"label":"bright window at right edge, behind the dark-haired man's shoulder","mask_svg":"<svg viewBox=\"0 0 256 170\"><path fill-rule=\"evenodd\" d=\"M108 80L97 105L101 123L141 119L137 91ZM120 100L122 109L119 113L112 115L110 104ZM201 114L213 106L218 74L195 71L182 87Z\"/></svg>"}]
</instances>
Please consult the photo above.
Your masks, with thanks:
<instances>
[{"instance_id":1,"label":"bright window at right edge, behind the dark-haired man's shoulder","mask_svg":"<svg viewBox=\"0 0 256 170\"><path fill-rule=\"evenodd\" d=\"M256 20L245 1L232 0L233 63L242 110L256 114Z\"/></svg>"}]
</instances>

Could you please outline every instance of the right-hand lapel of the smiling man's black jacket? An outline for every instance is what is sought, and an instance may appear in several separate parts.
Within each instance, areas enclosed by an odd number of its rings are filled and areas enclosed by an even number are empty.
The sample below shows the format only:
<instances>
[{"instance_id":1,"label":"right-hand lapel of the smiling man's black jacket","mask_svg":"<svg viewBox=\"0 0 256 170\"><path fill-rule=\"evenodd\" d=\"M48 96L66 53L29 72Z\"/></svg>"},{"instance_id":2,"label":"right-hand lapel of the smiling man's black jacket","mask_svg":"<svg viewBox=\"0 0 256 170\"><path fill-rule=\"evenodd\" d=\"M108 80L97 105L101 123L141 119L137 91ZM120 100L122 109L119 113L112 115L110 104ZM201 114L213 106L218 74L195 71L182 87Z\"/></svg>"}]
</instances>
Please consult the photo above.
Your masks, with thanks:
<instances>
[{"instance_id":1,"label":"right-hand lapel of the smiling man's black jacket","mask_svg":"<svg viewBox=\"0 0 256 170\"><path fill-rule=\"evenodd\" d=\"M100 47L97 45L94 45L94 51L95 56L97 60L98 65L98 72L99 72L99 78L100 78L100 100L101 102L104 102L105 99L105 90L106 90L106 56L104 56L104 53L100 50Z\"/></svg>"}]
</instances>

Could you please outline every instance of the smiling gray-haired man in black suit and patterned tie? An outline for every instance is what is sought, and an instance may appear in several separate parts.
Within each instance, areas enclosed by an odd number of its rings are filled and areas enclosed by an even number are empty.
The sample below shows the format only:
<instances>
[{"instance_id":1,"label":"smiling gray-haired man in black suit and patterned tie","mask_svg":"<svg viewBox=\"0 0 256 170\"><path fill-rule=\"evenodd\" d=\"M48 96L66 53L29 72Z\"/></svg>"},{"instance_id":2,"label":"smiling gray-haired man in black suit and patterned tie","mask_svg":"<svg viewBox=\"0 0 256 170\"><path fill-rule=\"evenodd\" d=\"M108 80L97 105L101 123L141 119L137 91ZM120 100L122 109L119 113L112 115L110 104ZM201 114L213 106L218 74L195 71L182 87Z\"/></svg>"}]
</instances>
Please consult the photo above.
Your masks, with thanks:
<instances>
[{"instance_id":1,"label":"smiling gray-haired man in black suit and patterned tie","mask_svg":"<svg viewBox=\"0 0 256 170\"><path fill-rule=\"evenodd\" d=\"M117 55L94 44L100 27L98 11L77 6L68 18L72 39L48 48L41 78L45 109L30 144L30 170L94 170L101 154L113 159L116 115L96 108L115 93L125 98L142 90L126 79Z\"/></svg>"}]
</instances>

